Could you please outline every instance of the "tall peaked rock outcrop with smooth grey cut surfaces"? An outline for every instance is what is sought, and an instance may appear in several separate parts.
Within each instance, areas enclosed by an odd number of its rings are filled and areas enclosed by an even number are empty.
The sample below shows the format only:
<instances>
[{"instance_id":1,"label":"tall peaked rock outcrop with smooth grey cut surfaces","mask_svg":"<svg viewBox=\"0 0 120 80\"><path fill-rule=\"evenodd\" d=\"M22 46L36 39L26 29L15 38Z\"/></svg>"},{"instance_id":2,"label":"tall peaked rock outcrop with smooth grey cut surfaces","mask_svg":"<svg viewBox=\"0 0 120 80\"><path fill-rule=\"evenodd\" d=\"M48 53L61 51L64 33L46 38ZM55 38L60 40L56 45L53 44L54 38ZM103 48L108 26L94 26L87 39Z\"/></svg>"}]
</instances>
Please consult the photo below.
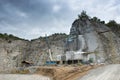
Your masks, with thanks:
<instances>
[{"instance_id":1,"label":"tall peaked rock outcrop with smooth grey cut surfaces","mask_svg":"<svg viewBox=\"0 0 120 80\"><path fill-rule=\"evenodd\" d=\"M95 62L120 62L120 39L105 24L81 14L73 22L70 35L76 37L70 43L70 50L92 53Z\"/></svg>"}]
</instances>

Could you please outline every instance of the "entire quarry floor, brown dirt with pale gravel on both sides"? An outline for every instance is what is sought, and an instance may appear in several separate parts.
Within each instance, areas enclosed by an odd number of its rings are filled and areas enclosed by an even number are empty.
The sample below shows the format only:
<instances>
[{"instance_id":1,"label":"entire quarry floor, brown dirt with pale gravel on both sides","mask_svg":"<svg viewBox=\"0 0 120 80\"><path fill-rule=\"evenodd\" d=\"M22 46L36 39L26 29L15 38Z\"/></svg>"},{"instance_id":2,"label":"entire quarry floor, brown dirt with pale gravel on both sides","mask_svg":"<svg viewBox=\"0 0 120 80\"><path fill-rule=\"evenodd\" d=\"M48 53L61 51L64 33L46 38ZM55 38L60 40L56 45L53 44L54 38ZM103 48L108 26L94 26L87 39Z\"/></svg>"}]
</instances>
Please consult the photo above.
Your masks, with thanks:
<instances>
[{"instance_id":1,"label":"entire quarry floor, brown dirt with pale gravel on both sides","mask_svg":"<svg viewBox=\"0 0 120 80\"><path fill-rule=\"evenodd\" d=\"M0 74L0 80L120 80L120 64L44 66L32 74Z\"/></svg>"}]
</instances>

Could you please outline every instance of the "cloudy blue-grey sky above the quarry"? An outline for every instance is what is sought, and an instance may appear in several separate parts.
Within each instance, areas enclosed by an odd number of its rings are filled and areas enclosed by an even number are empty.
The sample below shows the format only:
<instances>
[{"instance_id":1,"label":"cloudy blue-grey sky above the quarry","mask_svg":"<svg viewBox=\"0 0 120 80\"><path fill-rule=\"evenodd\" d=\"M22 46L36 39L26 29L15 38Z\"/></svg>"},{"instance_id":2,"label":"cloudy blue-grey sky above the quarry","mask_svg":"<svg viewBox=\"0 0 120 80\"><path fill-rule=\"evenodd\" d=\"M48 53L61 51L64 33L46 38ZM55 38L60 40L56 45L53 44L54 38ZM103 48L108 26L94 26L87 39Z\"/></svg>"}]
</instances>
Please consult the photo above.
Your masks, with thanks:
<instances>
[{"instance_id":1,"label":"cloudy blue-grey sky above the quarry","mask_svg":"<svg viewBox=\"0 0 120 80\"><path fill-rule=\"evenodd\" d=\"M35 39L69 34L78 14L120 23L120 0L0 0L0 33Z\"/></svg>"}]
</instances>

